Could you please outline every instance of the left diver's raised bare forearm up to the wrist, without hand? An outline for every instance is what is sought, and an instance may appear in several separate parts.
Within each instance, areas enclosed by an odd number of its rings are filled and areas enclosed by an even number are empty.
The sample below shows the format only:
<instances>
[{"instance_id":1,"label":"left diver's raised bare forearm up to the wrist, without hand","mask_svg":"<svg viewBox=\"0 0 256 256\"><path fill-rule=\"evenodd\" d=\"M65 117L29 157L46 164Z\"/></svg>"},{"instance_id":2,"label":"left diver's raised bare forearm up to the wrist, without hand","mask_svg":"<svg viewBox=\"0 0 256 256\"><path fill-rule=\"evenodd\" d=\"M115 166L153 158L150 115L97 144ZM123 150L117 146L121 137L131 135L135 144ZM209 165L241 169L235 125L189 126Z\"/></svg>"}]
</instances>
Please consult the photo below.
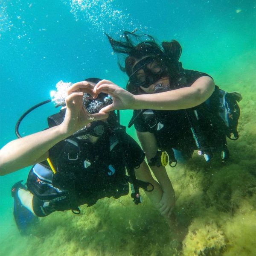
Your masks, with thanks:
<instances>
[{"instance_id":1,"label":"left diver's raised bare forearm up to the wrist, without hand","mask_svg":"<svg viewBox=\"0 0 256 256\"><path fill-rule=\"evenodd\" d=\"M0 175L45 160L48 150L66 137L68 134L58 125L9 142L0 150Z\"/></svg>"}]
</instances>

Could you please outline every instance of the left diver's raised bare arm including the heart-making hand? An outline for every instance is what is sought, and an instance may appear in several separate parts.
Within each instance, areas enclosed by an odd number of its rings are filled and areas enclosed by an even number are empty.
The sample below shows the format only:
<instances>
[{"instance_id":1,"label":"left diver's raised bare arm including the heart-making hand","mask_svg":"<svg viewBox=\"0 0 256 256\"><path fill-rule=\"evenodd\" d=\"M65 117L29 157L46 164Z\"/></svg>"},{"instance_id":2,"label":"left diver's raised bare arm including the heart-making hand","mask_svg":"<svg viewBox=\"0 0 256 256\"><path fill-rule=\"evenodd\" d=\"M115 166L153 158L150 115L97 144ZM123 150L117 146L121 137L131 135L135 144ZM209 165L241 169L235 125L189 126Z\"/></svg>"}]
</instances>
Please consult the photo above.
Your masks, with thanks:
<instances>
[{"instance_id":1,"label":"left diver's raised bare arm including the heart-making hand","mask_svg":"<svg viewBox=\"0 0 256 256\"><path fill-rule=\"evenodd\" d=\"M84 128L93 120L105 119L106 113L89 114L83 107L84 92L90 92L90 84L73 84L66 97L67 110L64 121L55 127L13 140L0 150L0 175L38 163L48 157L48 150L55 144Z\"/></svg>"}]
</instances>

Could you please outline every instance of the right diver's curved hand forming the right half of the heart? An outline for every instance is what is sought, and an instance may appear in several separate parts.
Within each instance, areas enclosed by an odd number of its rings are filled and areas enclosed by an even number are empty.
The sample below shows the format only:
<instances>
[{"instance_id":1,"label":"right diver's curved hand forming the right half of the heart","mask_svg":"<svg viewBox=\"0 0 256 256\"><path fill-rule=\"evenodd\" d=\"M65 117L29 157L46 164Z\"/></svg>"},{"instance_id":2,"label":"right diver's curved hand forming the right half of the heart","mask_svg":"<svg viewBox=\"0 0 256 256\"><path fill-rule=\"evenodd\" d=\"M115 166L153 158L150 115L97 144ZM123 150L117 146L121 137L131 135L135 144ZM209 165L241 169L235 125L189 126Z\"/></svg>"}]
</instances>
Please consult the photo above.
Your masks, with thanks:
<instances>
[{"instance_id":1,"label":"right diver's curved hand forming the right half of the heart","mask_svg":"<svg viewBox=\"0 0 256 256\"><path fill-rule=\"evenodd\" d=\"M133 109L135 101L134 95L113 82L108 80L99 81L93 90L93 93L95 94L94 97L100 92L108 93L108 95L112 96L113 103L102 108L99 113L109 112L115 109Z\"/></svg>"}]
</instances>

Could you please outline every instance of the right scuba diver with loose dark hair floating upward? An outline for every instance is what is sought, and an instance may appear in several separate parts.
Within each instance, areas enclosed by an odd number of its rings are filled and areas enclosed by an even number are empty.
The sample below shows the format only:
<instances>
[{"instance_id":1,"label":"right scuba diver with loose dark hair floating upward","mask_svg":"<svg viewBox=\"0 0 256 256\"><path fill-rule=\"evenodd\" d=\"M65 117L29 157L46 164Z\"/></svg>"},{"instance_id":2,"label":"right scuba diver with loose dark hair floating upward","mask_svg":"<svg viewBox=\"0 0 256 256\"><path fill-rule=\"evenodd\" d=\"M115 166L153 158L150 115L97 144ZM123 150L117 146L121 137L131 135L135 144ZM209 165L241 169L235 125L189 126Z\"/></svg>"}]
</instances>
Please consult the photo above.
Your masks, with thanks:
<instances>
[{"instance_id":1,"label":"right scuba diver with loose dark hair floating upward","mask_svg":"<svg viewBox=\"0 0 256 256\"><path fill-rule=\"evenodd\" d=\"M206 73L183 69L182 49L175 40L160 46L150 35L125 32L121 38L108 36L119 67L129 77L127 90L108 80L96 84L96 94L108 93L113 99L99 113L134 110L128 127L134 124L148 165L163 189L163 200L169 204L172 187L166 183L162 159L168 154L169 165L175 167L198 150L207 162L213 156L226 161L226 138L239 137L241 95L221 90Z\"/></svg>"}]
</instances>

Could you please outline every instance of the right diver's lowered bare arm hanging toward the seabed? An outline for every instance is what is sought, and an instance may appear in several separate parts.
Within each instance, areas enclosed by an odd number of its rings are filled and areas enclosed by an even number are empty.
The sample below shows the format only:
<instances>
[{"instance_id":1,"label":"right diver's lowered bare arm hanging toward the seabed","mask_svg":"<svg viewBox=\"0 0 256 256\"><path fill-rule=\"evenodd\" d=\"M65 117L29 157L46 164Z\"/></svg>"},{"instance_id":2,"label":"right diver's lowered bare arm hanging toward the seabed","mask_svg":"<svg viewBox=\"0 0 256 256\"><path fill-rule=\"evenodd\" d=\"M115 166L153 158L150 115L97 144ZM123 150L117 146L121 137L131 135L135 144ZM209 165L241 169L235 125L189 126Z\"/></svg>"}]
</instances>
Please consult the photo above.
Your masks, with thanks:
<instances>
[{"instance_id":1,"label":"right diver's lowered bare arm hanging toward the seabed","mask_svg":"<svg viewBox=\"0 0 256 256\"><path fill-rule=\"evenodd\" d=\"M137 135L149 162L150 159L157 153L157 140L154 134L150 132L137 131ZM151 170L163 189L163 196L158 204L160 212L163 215L170 215L175 204L175 192L172 187L172 183L167 175L166 169L163 166L151 166Z\"/></svg>"}]
</instances>

